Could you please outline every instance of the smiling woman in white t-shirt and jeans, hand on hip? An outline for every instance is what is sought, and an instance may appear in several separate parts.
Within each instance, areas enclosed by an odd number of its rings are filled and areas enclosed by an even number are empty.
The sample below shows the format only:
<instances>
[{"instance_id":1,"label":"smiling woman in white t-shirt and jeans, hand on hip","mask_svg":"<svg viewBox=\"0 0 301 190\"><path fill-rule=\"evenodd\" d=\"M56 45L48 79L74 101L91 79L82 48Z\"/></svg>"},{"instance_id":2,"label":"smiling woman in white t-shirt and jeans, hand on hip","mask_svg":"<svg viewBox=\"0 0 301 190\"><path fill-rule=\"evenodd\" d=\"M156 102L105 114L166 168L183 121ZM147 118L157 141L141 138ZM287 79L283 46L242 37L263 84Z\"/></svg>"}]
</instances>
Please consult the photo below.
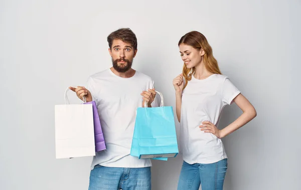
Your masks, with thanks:
<instances>
[{"instance_id":1,"label":"smiling woman in white t-shirt and jeans, hand on hip","mask_svg":"<svg viewBox=\"0 0 301 190\"><path fill-rule=\"evenodd\" d=\"M193 31L179 41L183 73L173 80L180 122L183 166L178 189L223 189L227 155L221 138L256 116L252 104L221 74L204 35ZM184 77L184 79L183 79ZM217 128L222 109L232 103L243 111L233 123Z\"/></svg>"}]
</instances>

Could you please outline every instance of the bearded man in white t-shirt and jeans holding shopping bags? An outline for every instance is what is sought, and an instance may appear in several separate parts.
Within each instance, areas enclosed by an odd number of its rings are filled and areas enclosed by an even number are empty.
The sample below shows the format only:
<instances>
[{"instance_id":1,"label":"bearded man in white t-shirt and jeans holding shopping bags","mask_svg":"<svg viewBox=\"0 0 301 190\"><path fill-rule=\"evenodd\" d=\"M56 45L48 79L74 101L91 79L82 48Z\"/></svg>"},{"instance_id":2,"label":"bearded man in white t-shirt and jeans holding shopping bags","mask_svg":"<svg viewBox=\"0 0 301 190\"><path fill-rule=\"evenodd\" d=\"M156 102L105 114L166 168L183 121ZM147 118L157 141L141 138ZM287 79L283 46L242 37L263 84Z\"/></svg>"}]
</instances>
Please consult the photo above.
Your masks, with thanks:
<instances>
[{"instance_id":1,"label":"bearded man in white t-shirt and jeans holding shopping bags","mask_svg":"<svg viewBox=\"0 0 301 190\"><path fill-rule=\"evenodd\" d=\"M93 157L89 190L149 190L152 162L131 156L130 148L137 107L156 104L154 81L131 68L137 39L130 29L112 32L107 41L113 67L90 76L87 88L70 87L80 99L96 101L107 148Z\"/></svg>"}]
</instances>

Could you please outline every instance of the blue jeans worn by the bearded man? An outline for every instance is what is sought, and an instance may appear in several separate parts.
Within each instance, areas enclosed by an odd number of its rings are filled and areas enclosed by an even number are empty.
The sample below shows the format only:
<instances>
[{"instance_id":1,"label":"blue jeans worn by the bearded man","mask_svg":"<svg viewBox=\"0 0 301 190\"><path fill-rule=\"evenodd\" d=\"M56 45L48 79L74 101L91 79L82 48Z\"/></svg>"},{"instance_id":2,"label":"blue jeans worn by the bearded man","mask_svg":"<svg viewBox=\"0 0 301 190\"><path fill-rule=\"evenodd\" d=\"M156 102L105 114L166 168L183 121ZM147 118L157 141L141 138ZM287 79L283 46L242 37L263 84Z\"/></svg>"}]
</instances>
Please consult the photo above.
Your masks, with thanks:
<instances>
[{"instance_id":1,"label":"blue jeans worn by the bearded man","mask_svg":"<svg viewBox=\"0 0 301 190\"><path fill-rule=\"evenodd\" d=\"M150 190L150 188L150 167L96 165L90 173L89 190Z\"/></svg>"}]
</instances>

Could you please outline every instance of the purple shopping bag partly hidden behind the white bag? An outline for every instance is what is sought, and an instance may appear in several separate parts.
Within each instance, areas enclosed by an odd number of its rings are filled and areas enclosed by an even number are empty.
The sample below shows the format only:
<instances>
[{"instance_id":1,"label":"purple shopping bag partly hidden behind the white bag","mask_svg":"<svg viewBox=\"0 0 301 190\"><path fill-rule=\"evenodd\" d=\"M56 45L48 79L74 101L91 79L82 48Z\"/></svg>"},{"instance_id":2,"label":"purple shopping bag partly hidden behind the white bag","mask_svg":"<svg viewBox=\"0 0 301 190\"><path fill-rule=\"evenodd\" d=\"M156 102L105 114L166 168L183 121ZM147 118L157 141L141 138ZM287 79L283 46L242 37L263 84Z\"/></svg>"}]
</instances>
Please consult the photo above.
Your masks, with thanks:
<instances>
[{"instance_id":1,"label":"purple shopping bag partly hidden behind the white bag","mask_svg":"<svg viewBox=\"0 0 301 190\"><path fill-rule=\"evenodd\" d=\"M100 125L100 119L96 107L95 101L85 102L84 104L92 104L93 108L93 119L94 119L94 138L95 138L95 151L101 151L106 149L105 142L103 138L103 133Z\"/></svg>"}]
</instances>

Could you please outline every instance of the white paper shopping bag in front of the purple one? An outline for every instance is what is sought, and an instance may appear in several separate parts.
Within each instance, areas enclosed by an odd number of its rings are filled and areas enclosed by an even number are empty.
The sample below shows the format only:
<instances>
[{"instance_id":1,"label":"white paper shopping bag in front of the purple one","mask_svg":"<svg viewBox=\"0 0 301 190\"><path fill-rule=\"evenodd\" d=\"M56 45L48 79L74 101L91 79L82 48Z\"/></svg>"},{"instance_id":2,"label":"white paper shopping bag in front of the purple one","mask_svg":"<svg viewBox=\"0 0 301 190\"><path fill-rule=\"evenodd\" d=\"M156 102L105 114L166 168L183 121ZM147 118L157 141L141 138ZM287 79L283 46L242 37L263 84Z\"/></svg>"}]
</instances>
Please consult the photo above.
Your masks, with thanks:
<instances>
[{"instance_id":1,"label":"white paper shopping bag in front of the purple one","mask_svg":"<svg viewBox=\"0 0 301 190\"><path fill-rule=\"evenodd\" d=\"M56 158L95 155L92 104L55 105ZM86 102L85 97L83 102ZM67 104L68 103L68 104Z\"/></svg>"}]
</instances>

